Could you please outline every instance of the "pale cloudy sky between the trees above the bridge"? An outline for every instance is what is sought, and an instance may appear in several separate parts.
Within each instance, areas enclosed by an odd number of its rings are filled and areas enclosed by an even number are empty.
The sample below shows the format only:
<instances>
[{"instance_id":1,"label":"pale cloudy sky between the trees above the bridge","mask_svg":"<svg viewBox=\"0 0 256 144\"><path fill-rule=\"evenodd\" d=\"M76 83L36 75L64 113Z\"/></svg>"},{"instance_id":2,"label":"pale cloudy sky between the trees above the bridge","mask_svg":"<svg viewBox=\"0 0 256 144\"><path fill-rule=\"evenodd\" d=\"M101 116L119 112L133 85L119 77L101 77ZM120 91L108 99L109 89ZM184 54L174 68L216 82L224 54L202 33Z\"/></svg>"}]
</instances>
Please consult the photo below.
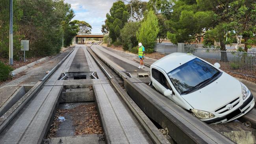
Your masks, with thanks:
<instances>
[{"instance_id":1,"label":"pale cloudy sky between the trees above the bridge","mask_svg":"<svg viewBox=\"0 0 256 144\"><path fill-rule=\"evenodd\" d=\"M65 0L71 4L76 20L84 20L92 26L91 33L102 33L101 25L104 24L106 14L116 0ZM143 0L148 1L148 0ZM127 2L125 2L127 4Z\"/></svg>"}]
</instances>

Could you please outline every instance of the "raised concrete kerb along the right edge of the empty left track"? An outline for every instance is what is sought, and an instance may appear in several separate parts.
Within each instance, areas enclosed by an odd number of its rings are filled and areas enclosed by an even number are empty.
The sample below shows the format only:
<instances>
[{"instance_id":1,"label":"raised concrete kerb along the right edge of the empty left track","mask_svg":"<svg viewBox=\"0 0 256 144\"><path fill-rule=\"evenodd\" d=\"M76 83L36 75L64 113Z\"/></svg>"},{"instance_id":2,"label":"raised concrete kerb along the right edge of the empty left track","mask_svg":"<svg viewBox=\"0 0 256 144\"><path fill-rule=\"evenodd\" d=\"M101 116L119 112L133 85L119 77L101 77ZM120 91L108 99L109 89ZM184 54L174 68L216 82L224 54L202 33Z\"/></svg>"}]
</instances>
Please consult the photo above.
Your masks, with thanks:
<instances>
[{"instance_id":1,"label":"raised concrete kerb along the right edge of the empty left track","mask_svg":"<svg viewBox=\"0 0 256 144\"><path fill-rule=\"evenodd\" d=\"M105 68L100 64L98 60L96 60L96 57L92 54L91 49L88 50L88 52L91 54L93 59L95 59L96 63L100 66L100 68L105 73ZM95 53L94 53L95 54ZM96 55L96 54L95 54ZM104 62L106 63L106 62ZM108 73L108 72L106 72ZM119 95L121 96L122 100L126 103L126 105L129 107L129 109L132 111L134 116L137 118L137 120L140 122L141 126L145 129L145 131L148 133L150 138L154 141L156 144L169 144L170 142L165 138L162 133L154 126L154 124L148 119L145 113L134 103L134 101L128 96L128 94L122 89L122 87L118 84L118 82L113 79L109 74L107 75L109 81L117 90Z\"/></svg>"}]
</instances>

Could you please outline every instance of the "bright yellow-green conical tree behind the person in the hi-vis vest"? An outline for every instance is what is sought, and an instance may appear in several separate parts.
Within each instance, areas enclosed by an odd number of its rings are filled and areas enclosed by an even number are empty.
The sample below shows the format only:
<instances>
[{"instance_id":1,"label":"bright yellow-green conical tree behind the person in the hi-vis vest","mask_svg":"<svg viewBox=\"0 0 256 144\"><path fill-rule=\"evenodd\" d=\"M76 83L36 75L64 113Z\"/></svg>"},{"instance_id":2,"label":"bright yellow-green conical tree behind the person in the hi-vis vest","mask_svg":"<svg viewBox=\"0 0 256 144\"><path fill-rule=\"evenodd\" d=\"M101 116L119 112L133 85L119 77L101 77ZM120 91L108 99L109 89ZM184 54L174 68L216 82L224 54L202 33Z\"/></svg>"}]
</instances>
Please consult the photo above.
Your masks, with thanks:
<instances>
[{"instance_id":1,"label":"bright yellow-green conical tree behind the person in the hi-vis vest","mask_svg":"<svg viewBox=\"0 0 256 144\"><path fill-rule=\"evenodd\" d=\"M137 40L145 46L146 51L152 50L156 44L158 32L158 19L154 11L150 10L136 33Z\"/></svg>"}]
</instances>

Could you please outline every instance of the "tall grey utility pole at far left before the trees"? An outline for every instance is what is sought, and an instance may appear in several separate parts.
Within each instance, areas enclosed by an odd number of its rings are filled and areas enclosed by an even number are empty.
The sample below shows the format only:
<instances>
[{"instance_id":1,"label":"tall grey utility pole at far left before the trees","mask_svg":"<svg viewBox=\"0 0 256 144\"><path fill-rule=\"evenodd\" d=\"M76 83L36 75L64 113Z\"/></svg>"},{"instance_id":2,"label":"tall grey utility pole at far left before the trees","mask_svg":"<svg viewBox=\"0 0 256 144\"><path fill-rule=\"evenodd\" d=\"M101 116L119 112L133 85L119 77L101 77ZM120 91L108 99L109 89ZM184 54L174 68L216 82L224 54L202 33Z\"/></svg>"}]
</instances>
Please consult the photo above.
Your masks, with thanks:
<instances>
[{"instance_id":1,"label":"tall grey utility pole at far left before the trees","mask_svg":"<svg viewBox=\"0 0 256 144\"><path fill-rule=\"evenodd\" d=\"M13 0L10 0L9 65L13 65Z\"/></svg>"}]
</instances>

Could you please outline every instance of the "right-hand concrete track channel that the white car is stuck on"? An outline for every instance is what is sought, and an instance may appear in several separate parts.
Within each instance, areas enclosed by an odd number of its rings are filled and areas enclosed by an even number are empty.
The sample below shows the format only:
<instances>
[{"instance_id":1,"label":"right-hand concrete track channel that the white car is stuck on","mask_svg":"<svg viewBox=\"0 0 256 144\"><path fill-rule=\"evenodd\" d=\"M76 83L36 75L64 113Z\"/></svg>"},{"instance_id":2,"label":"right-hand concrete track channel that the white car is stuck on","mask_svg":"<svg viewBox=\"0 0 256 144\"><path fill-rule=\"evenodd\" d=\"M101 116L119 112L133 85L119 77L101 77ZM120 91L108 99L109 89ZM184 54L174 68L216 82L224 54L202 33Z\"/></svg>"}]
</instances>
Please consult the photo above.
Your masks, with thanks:
<instances>
[{"instance_id":1,"label":"right-hand concrete track channel that the white car is stuck on","mask_svg":"<svg viewBox=\"0 0 256 144\"><path fill-rule=\"evenodd\" d=\"M137 69L131 57L113 52L109 48L92 45L88 51L95 55L102 66L113 75L112 79L123 79L123 88L159 129L165 129L171 143L255 143L255 109L239 120L225 124L205 124L195 118L147 84L149 78L137 78L138 73L149 71ZM150 64L147 64L150 66ZM124 71L129 71L132 78ZM114 76L115 75L115 76ZM118 76L117 76L118 75ZM122 85L122 82L119 82ZM243 124L246 122L246 124ZM249 124L249 125L248 125ZM246 125L246 126L245 126ZM249 126L249 127L247 127Z\"/></svg>"}]
</instances>

